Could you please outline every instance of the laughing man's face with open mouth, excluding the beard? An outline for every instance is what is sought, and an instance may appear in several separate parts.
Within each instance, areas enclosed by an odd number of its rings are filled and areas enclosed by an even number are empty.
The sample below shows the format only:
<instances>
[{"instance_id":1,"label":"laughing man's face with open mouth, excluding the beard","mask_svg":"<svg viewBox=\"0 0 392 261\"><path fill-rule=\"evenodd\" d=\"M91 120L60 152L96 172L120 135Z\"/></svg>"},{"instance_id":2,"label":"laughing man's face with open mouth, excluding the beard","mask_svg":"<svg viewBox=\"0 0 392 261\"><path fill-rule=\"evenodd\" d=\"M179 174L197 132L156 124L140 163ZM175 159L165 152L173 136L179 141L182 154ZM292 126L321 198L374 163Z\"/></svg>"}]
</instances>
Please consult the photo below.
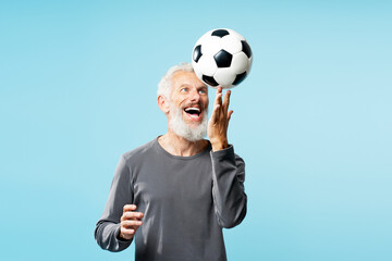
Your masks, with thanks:
<instances>
[{"instance_id":1,"label":"laughing man's face with open mouth, excluding the beard","mask_svg":"<svg viewBox=\"0 0 392 261\"><path fill-rule=\"evenodd\" d=\"M171 105L181 111L182 119L189 127L199 125L208 117L207 86L193 72L175 73L172 77Z\"/></svg>"}]
</instances>

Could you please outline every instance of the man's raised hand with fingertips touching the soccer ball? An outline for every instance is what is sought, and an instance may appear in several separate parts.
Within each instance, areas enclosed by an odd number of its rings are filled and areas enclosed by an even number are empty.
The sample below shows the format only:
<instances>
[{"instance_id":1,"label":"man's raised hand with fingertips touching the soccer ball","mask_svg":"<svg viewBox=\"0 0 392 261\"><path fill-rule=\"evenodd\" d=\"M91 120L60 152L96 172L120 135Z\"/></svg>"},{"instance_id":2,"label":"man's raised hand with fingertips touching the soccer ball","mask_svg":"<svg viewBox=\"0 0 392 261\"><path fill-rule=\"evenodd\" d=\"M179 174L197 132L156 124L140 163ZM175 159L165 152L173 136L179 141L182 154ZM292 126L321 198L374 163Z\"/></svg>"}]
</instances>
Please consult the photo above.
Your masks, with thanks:
<instances>
[{"instance_id":1,"label":"man's raised hand with fingertips touching the soccer ball","mask_svg":"<svg viewBox=\"0 0 392 261\"><path fill-rule=\"evenodd\" d=\"M217 90L217 97L213 103L213 111L208 121L208 138L212 146L212 151L228 148L228 127L233 111L229 109L231 91L228 90L222 103L222 87Z\"/></svg>"}]
</instances>

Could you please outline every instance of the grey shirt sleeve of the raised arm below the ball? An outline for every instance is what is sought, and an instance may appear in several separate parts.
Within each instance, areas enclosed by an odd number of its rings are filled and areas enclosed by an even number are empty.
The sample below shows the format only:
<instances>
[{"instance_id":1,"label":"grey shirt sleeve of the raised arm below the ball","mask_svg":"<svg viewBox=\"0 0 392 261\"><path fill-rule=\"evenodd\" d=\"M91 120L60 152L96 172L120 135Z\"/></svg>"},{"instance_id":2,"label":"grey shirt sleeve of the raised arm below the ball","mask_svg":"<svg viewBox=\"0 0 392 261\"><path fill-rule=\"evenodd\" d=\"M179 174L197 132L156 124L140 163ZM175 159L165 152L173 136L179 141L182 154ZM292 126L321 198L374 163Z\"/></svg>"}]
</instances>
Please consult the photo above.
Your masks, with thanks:
<instances>
[{"instance_id":1,"label":"grey shirt sleeve of the raised arm below the ball","mask_svg":"<svg viewBox=\"0 0 392 261\"><path fill-rule=\"evenodd\" d=\"M244 189L245 162L229 148L211 151L212 198L218 223L230 228L238 225L246 215L247 196Z\"/></svg>"}]
</instances>

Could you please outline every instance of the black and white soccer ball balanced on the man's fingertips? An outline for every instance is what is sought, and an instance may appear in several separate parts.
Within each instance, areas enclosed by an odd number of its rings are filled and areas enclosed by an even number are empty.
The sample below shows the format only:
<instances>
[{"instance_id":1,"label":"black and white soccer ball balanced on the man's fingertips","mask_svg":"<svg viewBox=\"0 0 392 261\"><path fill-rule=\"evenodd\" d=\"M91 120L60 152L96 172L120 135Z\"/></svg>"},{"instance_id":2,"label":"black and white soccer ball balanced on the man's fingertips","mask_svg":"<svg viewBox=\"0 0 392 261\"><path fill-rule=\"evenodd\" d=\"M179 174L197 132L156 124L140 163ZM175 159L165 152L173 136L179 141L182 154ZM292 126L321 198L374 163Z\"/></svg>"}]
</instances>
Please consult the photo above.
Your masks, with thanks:
<instances>
[{"instance_id":1,"label":"black and white soccer ball balanced on the man's fingertips","mask_svg":"<svg viewBox=\"0 0 392 261\"><path fill-rule=\"evenodd\" d=\"M195 74L212 88L237 86L249 74L252 50L232 29L212 29L203 35L192 53Z\"/></svg>"}]
</instances>

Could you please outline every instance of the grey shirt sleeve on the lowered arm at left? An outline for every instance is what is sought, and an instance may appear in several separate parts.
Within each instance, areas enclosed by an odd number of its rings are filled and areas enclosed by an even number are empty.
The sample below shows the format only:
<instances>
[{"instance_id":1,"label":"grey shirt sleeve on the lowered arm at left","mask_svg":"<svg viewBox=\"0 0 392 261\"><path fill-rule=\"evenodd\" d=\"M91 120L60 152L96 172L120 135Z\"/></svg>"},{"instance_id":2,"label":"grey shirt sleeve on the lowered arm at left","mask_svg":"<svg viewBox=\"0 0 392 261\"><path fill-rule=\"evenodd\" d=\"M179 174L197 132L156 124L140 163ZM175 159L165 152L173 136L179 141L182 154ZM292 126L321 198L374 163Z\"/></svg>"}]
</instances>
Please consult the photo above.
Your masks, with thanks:
<instances>
[{"instance_id":1,"label":"grey shirt sleeve on the lowered arm at left","mask_svg":"<svg viewBox=\"0 0 392 261\"><path fill-rule=\"evenodd\" d=\"M118 252L127 248L131 240L121 240L120 219L125 204L133 202L131 172L124 157L121 157L110 187L109 198L101 219L97 222L95 238L106 250Z\"/></svg>"}]
</instances>

